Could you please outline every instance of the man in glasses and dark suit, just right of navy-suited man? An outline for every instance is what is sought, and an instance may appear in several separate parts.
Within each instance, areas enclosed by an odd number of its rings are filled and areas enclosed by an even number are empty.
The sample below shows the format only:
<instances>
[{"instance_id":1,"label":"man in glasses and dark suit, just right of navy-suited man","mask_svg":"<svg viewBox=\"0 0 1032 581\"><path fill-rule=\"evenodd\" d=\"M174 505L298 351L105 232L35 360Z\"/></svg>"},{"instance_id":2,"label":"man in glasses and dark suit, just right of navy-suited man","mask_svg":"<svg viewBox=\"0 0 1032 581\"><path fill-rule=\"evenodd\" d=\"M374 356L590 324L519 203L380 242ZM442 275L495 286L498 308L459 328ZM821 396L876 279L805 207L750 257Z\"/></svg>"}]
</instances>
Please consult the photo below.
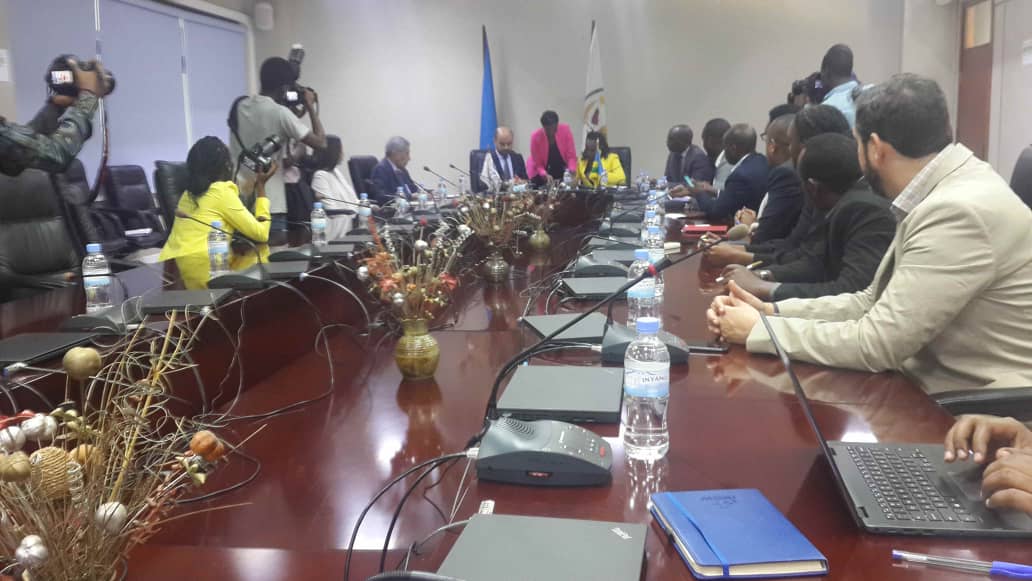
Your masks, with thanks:
<instances>
[{"instance_id":1,"label":"man in glasses and dark suit, just right of navy-suited man","mask_svg":"<svg viewBox=\"0 0 1032 581\"><path fill-rule=\"evenodd\" d=\"M770 172L767 174L767 195L755 215L752 244L786 237L803 209L803 187L796 174L788 147L788 128L795 118L795 115L784 115L775 119L763 134ZM742 212L748 214L751 211ZM749 222L745 217L740 220Z\"/></svg>"}]
</instances>

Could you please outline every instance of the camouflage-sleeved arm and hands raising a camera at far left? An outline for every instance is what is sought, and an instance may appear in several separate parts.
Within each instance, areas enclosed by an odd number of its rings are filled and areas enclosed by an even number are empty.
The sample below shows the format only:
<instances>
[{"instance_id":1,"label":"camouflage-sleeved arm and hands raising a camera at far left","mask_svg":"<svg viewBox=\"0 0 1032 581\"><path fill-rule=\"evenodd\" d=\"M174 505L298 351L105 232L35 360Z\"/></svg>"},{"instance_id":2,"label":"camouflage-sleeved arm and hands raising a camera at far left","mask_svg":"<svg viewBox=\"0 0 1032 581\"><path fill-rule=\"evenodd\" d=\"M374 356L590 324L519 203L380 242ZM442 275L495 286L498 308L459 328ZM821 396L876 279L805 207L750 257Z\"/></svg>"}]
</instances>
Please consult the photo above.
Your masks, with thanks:
<instances>
[{"instance_id":1,"label":"camouflage-sleeved arm and hands raising a camera at far left","mask_svg":"<svg viewBox=\"0 0 1032 581\"><path fill-rule=\"evenodd\" d=\"M99 98L110 92L110 84L97 61L90 61L85 67L75 61L69 61L69 65L78 90L77 97L74 101L62 99L61 102L55 98L43 106L52 110L53 106L68 107L58 119L56 130L41 132L31 125L8 123L0 118L0 172L18 175L30 167L50 172L65 171L93 134L93 115L97 111ZM37 115L36 119L42 117Z\"/></svg>"}]
</instances>

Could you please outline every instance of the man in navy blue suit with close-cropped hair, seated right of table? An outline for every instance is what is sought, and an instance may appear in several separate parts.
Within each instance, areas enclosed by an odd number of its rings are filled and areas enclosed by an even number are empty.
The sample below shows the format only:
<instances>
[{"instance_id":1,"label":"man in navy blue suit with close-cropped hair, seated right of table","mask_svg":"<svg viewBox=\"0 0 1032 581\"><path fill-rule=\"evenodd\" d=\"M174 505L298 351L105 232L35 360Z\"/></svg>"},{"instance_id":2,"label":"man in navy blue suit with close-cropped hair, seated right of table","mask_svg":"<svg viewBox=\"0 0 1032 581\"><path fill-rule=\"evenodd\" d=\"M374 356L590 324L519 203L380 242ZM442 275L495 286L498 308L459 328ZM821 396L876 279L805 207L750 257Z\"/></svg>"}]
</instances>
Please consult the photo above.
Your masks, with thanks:
<instances>
[{"instance_id":1,"label":"man in navy blue suit with close-cropped hair, seated right of table","mask_svg":"<svg viewBox=\"0 0 1032 581\"><path fill-rule=\"evenodd\" d=\"M692 189L699 209L711 222L731 222L743 207L759 211L767 193L767 158L756 153L755 129L733 125L723 135L723 157L732 165L723 189L717 192L705 182Z\"/></svg>"}]
</instances>

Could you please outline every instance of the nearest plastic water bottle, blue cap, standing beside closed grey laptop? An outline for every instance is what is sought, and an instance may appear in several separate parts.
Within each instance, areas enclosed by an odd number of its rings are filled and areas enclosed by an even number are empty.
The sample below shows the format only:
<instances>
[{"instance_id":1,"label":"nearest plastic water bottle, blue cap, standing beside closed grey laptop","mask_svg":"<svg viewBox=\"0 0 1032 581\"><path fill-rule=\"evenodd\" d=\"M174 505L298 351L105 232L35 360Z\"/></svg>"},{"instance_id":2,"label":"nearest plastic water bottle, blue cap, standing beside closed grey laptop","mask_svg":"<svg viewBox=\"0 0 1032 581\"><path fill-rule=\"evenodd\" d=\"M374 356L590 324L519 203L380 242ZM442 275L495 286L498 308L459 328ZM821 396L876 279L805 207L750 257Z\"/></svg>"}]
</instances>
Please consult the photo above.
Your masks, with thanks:
<instances>
[{"instance_id":1,"label":"nearest plastic water bottle, blue cap, standing beside closed grey laptop","mask_svg":"<svg viewBox=\"0 0 1032 581\"><path fill-rule=\"evenodd\" d=\"M638 337L623 357L623 411L620 429L628 458L657 460L670 450L670 353L659 341L659 321L638 319Z\"/></svg>"}]
</instances>

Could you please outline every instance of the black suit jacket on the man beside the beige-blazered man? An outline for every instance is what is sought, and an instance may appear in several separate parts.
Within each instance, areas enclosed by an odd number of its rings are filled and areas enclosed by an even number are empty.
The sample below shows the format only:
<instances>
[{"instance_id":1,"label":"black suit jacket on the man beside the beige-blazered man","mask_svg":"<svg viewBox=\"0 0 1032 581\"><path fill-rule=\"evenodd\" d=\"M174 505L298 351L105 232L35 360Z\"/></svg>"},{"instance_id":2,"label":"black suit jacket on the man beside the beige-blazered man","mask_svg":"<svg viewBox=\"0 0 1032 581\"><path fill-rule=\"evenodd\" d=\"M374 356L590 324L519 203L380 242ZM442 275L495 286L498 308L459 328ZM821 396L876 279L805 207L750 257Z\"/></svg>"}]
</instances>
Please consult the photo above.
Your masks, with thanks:
<instances>
[{"instance_id":1,"label":"black suit jacket on the man beside the beige-blazered man","mask_svg":"<svg viewBox=\"0 0 1032 581\"><path fill-rule=\"evenodd\" d=\"M817 217L798 249L774 257L781 285L774 300L812 298L867 288L896 234L889 200L860 182L826 217ZM756 257L756 260L762 258Z\"/></svg>"}]
</instances>

